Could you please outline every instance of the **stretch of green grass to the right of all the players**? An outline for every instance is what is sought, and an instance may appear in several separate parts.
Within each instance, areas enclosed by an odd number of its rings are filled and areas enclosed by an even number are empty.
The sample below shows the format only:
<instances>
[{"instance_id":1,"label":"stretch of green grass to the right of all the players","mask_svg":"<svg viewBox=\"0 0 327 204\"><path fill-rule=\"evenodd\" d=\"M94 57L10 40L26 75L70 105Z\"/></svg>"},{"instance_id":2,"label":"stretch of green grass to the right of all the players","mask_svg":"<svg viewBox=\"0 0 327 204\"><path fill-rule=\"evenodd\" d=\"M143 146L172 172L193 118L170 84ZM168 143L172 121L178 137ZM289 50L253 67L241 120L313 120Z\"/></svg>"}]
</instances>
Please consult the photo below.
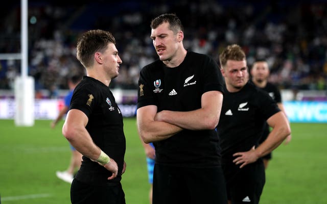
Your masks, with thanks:
<instances>
[{"instance_id":1,"label":"stretch of green grass to the right of all the players","mask_svg":"<svg viewBox=\"0 0 327 204\"><path fill-rule=\"evenodd\" d=\"M261 204L327 203L327 124L293 123L292 141L273 151Z\"/></svg>"}]
</instances>

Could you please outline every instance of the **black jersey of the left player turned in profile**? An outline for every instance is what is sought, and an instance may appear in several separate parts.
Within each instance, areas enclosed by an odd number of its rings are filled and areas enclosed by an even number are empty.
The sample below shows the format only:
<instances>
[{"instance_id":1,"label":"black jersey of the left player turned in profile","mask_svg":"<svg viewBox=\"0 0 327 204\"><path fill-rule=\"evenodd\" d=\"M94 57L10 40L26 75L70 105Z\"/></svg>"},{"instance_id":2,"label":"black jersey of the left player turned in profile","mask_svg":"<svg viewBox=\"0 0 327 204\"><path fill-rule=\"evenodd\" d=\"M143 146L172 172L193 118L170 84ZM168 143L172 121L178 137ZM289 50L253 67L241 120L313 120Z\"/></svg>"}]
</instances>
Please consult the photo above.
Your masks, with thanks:
<instances>
[{"instance_id":1,"label":"black jersey of the left player turned in profile","mask_svg":"<svg viewBox=\"0 0 327 204\"><path fill-rule=\"evenodd\" d=\"M86 183L114 183L121 180L126 150L123 116L109 87L102 82L83 77L74 90L69 110L78 109L88 117L86 130L94 143L118 164L118 175L107 180L111 172L83 156L76 179Z\"/></svg>"}]
</instances>

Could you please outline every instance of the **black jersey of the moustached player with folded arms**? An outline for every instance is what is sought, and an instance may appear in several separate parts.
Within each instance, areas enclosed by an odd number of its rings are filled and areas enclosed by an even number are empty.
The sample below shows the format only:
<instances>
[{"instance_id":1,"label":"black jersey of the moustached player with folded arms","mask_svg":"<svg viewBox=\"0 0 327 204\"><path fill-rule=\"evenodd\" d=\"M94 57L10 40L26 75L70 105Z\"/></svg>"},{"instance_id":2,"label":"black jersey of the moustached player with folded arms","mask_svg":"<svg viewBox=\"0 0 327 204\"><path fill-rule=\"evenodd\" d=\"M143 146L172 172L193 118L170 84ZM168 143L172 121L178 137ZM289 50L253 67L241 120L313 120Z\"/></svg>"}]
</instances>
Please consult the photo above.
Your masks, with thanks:
<instances>
[{"instance_id":1,"label":"black jersey of the moustached player with folded arms","mask_svg":"<svg viewBox=\"0 0 327 204\"><path fill-rule=\"evenodd\" d=\"M210 57L188 52L178 67L157 60L145 66L138 81L137 108L155 105L157 110L192 111L201 108L207 91L223 92L217 63ZM219 139L215 130L183 130L154 142L156 162L189 167L220 165Z\"/></svg>"}]
</instances>

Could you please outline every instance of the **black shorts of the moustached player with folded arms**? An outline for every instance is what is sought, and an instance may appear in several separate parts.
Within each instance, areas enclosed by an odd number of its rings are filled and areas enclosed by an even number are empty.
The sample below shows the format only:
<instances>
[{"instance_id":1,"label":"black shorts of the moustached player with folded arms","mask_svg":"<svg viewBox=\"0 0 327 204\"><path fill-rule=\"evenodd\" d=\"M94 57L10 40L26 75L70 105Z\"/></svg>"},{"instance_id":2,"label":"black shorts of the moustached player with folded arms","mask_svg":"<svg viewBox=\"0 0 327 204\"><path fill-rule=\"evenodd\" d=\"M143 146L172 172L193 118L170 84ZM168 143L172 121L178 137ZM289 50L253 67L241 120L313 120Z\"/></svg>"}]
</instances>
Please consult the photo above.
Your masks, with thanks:
<instances>
[{"instance_id":1,"label":"black shorts of the moustached player with folded arms","mask_svg":"<svg viewBox=\"0 0 327 204\"><path fill-rule=\"evenodd\" d=\"M226 186L222 169L155 164L152 198L153 204L226 204Z\"/></svg>"}]
</instances>

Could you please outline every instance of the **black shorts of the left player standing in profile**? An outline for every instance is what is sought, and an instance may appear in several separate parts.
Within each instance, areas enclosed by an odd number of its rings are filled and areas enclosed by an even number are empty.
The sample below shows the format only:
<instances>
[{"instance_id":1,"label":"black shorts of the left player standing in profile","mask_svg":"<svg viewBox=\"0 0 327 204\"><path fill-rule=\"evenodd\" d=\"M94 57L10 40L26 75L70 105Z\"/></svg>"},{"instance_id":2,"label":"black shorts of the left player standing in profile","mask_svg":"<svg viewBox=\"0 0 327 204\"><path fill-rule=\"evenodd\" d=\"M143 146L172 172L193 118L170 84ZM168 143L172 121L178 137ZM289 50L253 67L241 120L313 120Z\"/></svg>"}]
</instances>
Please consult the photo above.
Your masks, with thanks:
<instances>
[{"instance_id":1,"label":"black shorts of the left player standing in profile","mask_svg":"<svg viewBox=\"0 0 327 204\"><path fill-rule=\"evenodd\" d=\"M76 179L71 186L71 202L74 203L106 203L125 204L125 193L121 183L105 186L85 184Z\"/></svg>"}]
</instances>

